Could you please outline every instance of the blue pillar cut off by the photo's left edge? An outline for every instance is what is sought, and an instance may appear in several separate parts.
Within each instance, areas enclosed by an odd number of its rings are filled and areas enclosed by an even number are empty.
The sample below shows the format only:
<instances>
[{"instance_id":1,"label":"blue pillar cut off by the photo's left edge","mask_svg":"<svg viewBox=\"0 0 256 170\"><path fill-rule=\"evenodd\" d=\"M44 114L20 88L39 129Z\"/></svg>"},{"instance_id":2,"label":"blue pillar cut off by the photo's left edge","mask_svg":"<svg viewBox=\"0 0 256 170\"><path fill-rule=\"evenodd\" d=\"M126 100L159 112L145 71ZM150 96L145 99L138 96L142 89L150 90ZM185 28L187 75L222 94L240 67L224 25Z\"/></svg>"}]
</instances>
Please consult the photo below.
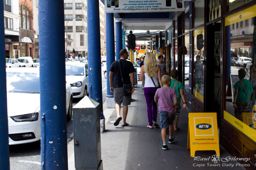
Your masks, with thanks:
<instances>
[{"instance_id":1,"label":"blue pillar cut off by the photo's left edge","mask_svg":"<svg viewBox=\"0 0 256 170\"><path fill-rule=\"evenodd\" d=\"M3 4L3 3L2 3ZM6 97L5 34L3 26L3 5L0 6L0 169L9 170L9 137Z\"/></svg>"}]
</instances>

